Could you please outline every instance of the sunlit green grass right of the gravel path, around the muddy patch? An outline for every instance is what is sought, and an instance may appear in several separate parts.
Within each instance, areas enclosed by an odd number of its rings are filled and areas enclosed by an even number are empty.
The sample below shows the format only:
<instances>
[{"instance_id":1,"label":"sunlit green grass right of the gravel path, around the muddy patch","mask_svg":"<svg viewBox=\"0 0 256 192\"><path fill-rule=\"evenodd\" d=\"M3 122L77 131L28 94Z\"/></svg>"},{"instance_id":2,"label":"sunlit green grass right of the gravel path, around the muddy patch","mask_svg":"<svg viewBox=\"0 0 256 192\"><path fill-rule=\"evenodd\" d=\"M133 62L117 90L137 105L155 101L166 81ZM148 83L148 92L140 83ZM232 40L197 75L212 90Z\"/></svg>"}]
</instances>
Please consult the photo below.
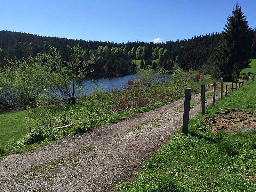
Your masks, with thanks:
<instances>
[{"instance_id":1,"label":"sunlit green grass right of the gravel path, around the muddy patch","mask_svg":"<svg viewBox=\"0 0 256 192\"><path fill-rule=\"evenodd\" d=\"M256 111L256 82L249 81L176 132L132 181L116 191L256 191L256 130L213 134L202 119L229 108ZM231 153L232 152L232 153Z\"/></svg>"}]
</instances>

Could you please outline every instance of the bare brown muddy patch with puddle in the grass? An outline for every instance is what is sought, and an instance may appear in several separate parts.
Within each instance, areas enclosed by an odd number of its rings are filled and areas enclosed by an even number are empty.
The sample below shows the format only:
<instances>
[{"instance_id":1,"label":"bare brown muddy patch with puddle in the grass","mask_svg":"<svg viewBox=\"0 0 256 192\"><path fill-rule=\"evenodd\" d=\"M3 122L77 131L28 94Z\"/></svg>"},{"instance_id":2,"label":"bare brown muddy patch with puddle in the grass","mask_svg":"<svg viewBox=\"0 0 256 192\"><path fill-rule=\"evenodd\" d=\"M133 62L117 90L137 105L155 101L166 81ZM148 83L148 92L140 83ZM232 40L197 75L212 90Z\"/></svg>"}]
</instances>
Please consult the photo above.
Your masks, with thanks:
<instances>
[{"instance_id":1,"label":"bare brown muddy patch with puddle in the grass","mask_svg":"<svg viewBox=\"0 0 256 192\"><path fill-rule=\"evenodd\" d=\"M217 116L204 118L204 124L212 125L214 133L222 130L225 132L249 131L256 129L255 114L245 110L227 109L225 112L216 113Z\"/></svg>"}]
</instances>

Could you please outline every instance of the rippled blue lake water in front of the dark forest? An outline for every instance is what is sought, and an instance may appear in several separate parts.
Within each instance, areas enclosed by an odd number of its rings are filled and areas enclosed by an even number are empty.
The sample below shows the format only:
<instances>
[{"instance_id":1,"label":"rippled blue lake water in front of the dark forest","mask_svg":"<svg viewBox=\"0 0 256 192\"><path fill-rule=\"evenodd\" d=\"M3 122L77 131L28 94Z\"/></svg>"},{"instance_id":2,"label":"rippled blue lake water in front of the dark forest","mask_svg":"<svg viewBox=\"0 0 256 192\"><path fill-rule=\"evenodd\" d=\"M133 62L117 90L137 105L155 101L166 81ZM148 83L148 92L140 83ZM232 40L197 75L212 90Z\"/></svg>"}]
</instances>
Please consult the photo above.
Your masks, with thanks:
<instances>
[{"instance_id":1,"label":"rippled blue lake water in front of the dark forest","mask_svg":"<svg viewBox=\"0 0 256 192\"><path fill-rule=\"evenodd\" d=\"M101 88L103 92L111 92L113 88L122 89L124 85L128 84L128 81L133 81L136 75L126 75L126 76L118 76L118 77L87 77L82 82L79 83L80 95L84 93L92 92L92 89L96 86ZM164 80L167 80L168 77L171 77L171 73L167 73L164 77Z\"/></svg>"}]
</instances>

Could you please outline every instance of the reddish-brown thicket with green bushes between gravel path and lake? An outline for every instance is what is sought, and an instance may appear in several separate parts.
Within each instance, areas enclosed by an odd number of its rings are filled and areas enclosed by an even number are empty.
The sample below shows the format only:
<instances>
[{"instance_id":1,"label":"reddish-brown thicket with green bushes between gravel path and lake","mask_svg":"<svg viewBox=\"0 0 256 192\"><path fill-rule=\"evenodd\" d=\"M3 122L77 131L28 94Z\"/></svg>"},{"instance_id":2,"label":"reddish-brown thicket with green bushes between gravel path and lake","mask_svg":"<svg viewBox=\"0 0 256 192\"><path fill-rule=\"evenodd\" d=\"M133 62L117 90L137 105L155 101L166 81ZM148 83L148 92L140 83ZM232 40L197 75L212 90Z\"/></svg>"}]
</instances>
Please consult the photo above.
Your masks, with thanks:
<instances>
[{"instance_id":1,"label":"reddish-brown thicket with green bushes between gravel path and lake","mask_svg":"<svg viewBox=\"0 0 256 192\"><path fill-rule=\"evenodd\" d=\"M170 82L157 83L157 74L152 69L137 73L133 86L124 86L123 90L113 89L108 94L114 111L142 108L156 102L171 99L185 88L192 87L191 81L181 70L173 72Z\"/></svg>"}]
</instances>

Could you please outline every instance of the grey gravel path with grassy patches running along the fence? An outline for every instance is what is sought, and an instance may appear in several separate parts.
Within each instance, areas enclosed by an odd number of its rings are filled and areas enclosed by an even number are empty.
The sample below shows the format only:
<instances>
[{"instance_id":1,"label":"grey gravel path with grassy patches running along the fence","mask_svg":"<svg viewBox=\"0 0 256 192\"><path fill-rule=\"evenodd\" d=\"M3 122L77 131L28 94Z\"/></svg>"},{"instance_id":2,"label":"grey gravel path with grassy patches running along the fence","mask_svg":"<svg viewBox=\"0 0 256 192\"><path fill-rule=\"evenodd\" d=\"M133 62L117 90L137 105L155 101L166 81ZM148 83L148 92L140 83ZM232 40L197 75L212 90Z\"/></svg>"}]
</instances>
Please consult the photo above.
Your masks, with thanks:
<instances>
[{"instance_id":1,"label":"grey gravel path with grassy patches running along the fence","mask_svg":"<svg viewBox=\"0 0 256 192\"><path fill-rule=\"evenodd\" d=\"M199 101L200 94L191 99ZM183 105L184 99L173 101L129 120L7 156L0 161L0 191L113 191L121 180L132 179L140 164L179 129ZM190 118L200 110L197 103Z\"/></svg>"}]
</instances>

